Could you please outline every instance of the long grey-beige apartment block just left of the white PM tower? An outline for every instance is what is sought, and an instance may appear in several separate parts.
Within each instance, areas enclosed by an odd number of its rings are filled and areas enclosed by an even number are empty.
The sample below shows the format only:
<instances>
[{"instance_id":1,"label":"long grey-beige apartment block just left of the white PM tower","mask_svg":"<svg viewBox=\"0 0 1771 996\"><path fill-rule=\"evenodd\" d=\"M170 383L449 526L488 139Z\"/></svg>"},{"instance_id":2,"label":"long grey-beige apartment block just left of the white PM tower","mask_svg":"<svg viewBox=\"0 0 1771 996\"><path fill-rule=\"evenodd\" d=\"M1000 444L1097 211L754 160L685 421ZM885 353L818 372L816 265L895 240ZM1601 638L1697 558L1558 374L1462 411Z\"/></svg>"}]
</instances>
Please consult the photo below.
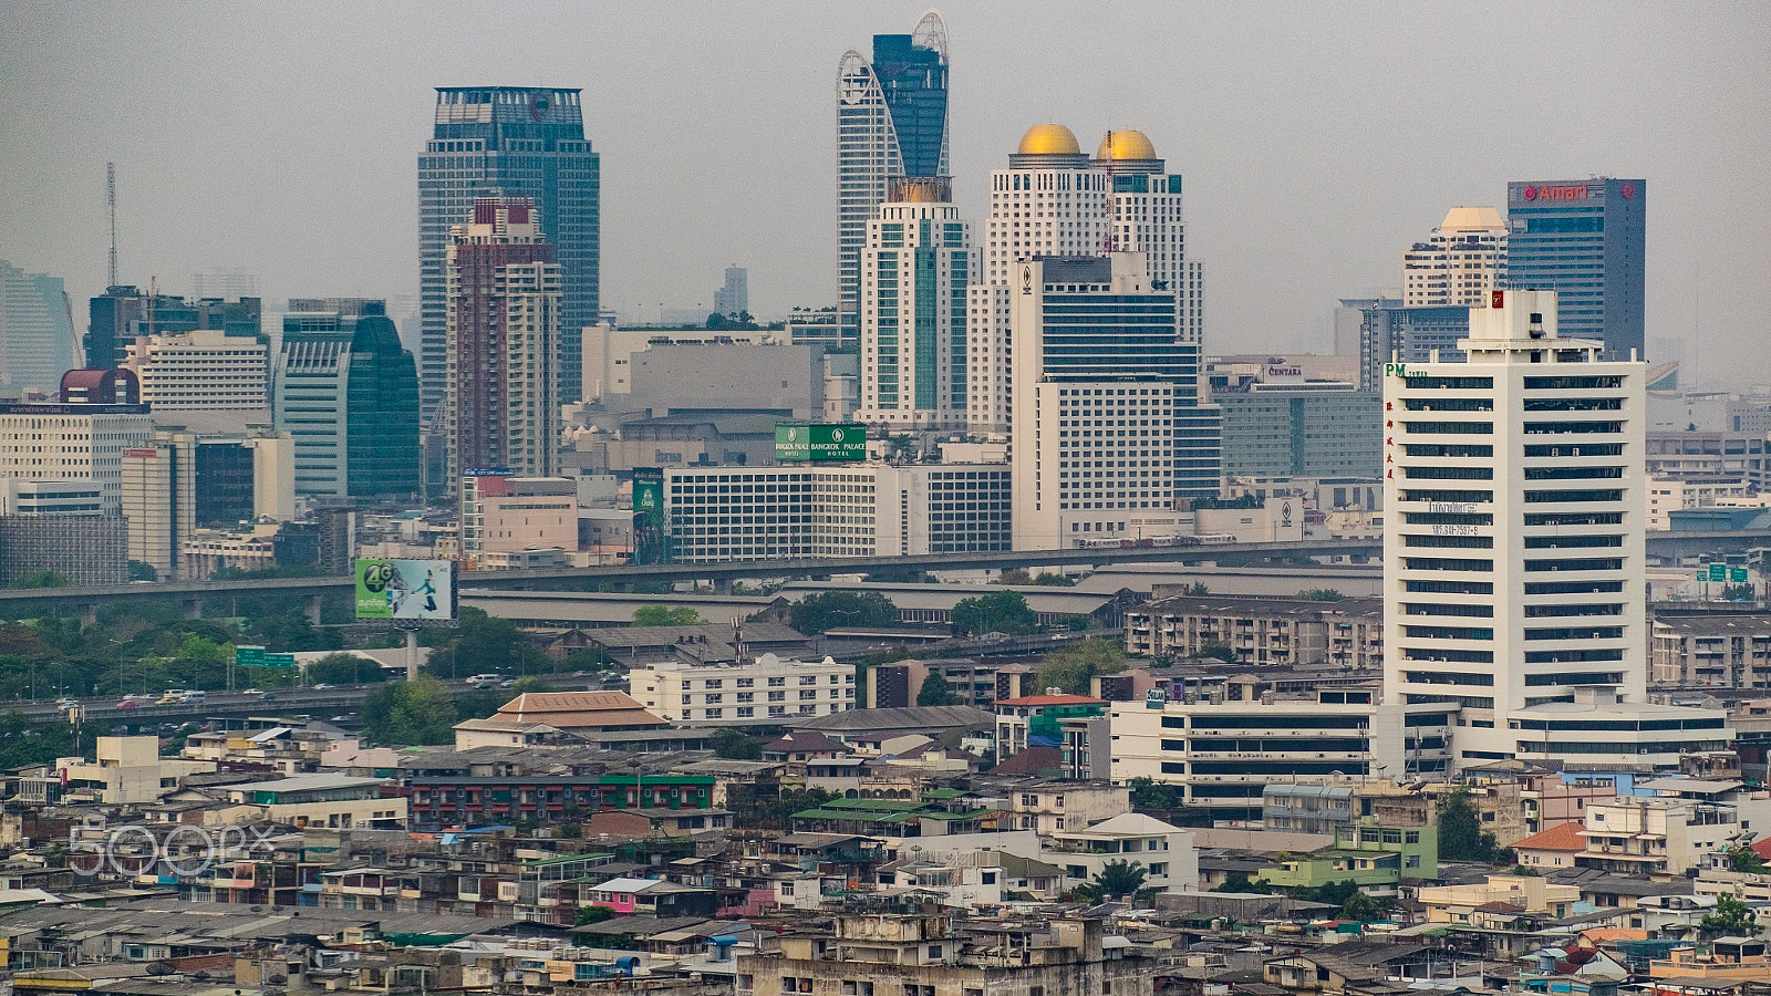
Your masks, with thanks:
<instances>
[{"instance_id":1,"label":"long grey-beige apartment block just left of the white PM tower","mask_svg":"<svg viewBox=\"0 0 1771 996\"><path fill-rule=\"evenodd\" d=\"M1125 649L1151 658L1229 649L1243 665L1381 668L1383 601L1171 597L1126 610Z\"/></svg>"}]
</instances>

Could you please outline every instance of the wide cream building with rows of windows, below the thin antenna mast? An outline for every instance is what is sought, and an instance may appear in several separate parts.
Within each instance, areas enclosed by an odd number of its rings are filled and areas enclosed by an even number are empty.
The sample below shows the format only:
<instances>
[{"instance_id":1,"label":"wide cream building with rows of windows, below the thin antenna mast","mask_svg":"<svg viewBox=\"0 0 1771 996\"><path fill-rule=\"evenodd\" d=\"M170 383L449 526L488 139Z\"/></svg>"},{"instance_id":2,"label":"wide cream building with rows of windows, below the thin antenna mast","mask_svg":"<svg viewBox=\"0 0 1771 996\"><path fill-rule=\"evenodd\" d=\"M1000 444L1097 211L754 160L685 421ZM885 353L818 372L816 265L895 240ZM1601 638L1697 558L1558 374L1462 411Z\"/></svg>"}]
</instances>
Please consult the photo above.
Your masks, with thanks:
<instances>
[{"instance_id":1,"label":"wide cream building with rows of windows, below the thin antenna mast","mask_svg":"<svg viewBox=\"0 0 1771 996\"><path fill-rule=\"evenodd\" d=\"M213 330L140 335L124 367L142 379L142 401L154 411L271 404L269 346L259 337Z\"/></svg>"}]
</instances>

